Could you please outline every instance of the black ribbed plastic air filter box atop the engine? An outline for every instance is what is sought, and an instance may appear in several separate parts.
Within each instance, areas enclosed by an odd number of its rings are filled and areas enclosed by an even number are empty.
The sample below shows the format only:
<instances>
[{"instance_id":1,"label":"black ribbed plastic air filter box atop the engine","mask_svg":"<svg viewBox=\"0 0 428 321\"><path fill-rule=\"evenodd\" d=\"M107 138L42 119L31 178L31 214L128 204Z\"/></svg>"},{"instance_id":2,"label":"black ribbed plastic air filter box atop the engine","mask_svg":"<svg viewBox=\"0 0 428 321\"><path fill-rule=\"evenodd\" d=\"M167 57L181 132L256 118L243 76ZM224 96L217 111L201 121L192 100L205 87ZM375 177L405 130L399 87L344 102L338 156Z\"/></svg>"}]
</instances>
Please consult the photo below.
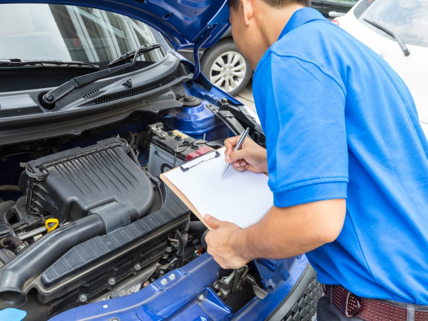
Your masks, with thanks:
<instances>
[{"instance_id":1,"label":"black ribbed plastic air filter box atop the engine","mask_svg":"<svg viewBox=\"0 0 428 321\"><path fill-rule=\"evenodd\" d=\"M74 221L115 201L143 217L152 206L153 187L127 154L136 159L124 140L109 138L29 161L19 178L27 212Z\"/></svg>"}]
</instances>

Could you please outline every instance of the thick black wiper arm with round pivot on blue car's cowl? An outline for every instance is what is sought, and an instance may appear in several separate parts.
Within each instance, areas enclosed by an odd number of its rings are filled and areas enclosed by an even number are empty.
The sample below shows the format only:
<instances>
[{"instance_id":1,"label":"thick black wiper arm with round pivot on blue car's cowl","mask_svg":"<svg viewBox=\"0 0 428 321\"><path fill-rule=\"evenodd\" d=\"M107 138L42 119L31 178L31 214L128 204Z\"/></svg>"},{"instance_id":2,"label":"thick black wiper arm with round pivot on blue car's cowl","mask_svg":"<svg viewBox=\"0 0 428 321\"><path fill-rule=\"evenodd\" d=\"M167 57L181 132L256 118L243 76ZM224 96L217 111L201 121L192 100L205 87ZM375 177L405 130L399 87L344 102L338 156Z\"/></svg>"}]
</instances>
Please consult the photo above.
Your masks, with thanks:
<instances>
[{"instance_id":1,"label":"thick black wiper arm with round pivot on blue car's cowl","mask_svg":"<svg viewBox=\"0 0 428 321\"><path fill-rule=\"evenodd\" d=\"M82 88L82 87L89 85L89 84L91 84L91 83L93 83L93 82L95 82L101 78L104 78L108 75L111 75L111 74L119 72L119 71L123 71L124 69L133 66L135 64L135 62L137 61L137 58L140 54L144 54L145 52L152 50L152 45L154 45L154 44L142 45L142 46L138 47L135 50L134 59L132 59L131 62L128 62L128 63L121 65L121 66L117 66L117 67L113 67L113 68L109 68L109 69L105 69L105 70L100 70L100 71L95 71L95 72L89 73L87 75L83 75L83 76L73 78L70 81L62 84L61 86L58 86L55 89L52 89L46 95L43 96L42 103L52 106L55 102L57 102L59 99L61 99L65 95L69 94L74 89ZM156 45L158 45L158 44L156 44Z\"/></svg>"}]
</instances>

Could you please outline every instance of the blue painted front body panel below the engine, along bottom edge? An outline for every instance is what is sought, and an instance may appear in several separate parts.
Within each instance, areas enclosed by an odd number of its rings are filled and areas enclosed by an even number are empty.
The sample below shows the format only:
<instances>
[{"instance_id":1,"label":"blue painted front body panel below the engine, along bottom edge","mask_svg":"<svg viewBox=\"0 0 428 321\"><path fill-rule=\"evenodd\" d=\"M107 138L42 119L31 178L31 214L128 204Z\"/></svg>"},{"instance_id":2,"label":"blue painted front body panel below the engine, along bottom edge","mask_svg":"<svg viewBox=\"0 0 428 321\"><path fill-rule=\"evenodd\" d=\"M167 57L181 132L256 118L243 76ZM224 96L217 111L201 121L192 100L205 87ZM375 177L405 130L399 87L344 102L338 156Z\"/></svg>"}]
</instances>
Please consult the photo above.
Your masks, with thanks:
<instances>
[{"instance_id":1,"label":"blue painted front body panel below the engine, along bottom edge","mask_svg":"<svg viewBox=\"0 0 428 321\"><path fill-rule=\"evenodd\" d=\"M266 299L254 297L233 314L210 287L220 267L208 253L125 297L76 307L52 318L61 320L261 320L277 309L307 266L305 255L283 260L255 260ZM163 284L162 284L162 280Z\"/></svg>"}]
</instances>

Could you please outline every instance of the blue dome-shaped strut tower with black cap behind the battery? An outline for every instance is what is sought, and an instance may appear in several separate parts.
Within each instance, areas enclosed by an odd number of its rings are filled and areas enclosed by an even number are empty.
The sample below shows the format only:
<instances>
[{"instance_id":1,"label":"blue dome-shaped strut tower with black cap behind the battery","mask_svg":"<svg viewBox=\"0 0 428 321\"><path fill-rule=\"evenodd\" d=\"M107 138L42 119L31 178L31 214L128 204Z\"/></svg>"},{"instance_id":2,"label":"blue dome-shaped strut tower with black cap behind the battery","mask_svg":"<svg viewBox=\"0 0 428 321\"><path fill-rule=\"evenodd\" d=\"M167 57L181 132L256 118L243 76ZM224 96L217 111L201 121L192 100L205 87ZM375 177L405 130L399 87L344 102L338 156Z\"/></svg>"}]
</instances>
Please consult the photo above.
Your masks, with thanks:
<instances>
[{"instance_id":1,"label":"blue dome-shaped strut tower with black cap behind the battery","mask_svg":"<svg viewBox=\"0 0 428 321\"><path fill-rule=\"evenodd\" d=\"M194 96L185 96L179 101L183 107L171 111L167 116L170 118L172 129L189 135L193 138L202 138L206 134L206 139L223 138L226 133L222 133L225 125L218 120L213 112L202 104L202 100Z\"/></svg>"}]
</instances>

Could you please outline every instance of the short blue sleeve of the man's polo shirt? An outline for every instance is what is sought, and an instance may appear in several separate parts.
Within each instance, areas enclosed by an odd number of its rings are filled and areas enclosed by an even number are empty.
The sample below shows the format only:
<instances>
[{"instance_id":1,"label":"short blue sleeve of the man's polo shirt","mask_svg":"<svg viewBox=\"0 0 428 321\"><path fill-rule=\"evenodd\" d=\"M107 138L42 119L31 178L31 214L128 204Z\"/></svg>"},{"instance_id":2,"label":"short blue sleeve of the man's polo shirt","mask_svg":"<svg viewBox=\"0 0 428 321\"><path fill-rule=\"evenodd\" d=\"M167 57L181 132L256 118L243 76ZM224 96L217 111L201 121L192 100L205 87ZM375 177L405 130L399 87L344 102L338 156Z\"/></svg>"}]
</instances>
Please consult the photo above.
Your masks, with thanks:
<instances>
[{"instance_id":1,"label":"short blue sleeve of the man's polo shirt","mask_svg":"<svg viewBox=\"0 0 428 321\"><path fill-rule=\"evenodd\" d=\"M343 86L314 62L271 53L256 70L253 94L275 206L346 198Z\"/></svg>"}]
</instances>

